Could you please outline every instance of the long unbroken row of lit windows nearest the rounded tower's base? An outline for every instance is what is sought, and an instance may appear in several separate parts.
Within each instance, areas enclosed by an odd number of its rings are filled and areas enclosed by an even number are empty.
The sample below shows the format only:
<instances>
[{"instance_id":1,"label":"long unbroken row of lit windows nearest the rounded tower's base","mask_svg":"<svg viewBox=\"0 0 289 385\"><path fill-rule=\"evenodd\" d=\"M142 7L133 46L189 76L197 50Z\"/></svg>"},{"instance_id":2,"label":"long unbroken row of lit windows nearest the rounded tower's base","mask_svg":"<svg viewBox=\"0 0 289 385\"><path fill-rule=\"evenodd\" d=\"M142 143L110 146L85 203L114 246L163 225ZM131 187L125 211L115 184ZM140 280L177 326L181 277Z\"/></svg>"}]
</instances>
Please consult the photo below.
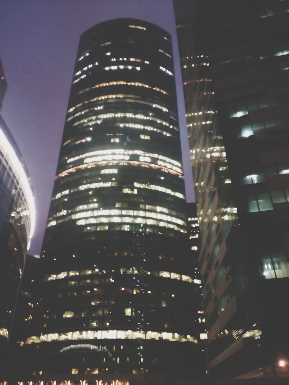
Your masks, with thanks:
<instances>
[{"instance_id":1,"label":"long unbroken row of lit windows nearest the rounded tower's base","mask_svg":"<svg viewBox=\"0 0 289 385\"><path fill-rule=\"evenodd\" d=\"M49 333L40 336L30 336L25 344L50 341L69 341L69 340L167 340L178 342L198 343L194 336L180 335L178 333L158 332L158 331L132 331L132 330L87 330L69 331L67 333Z\"/></svg>"}]
</instances>

